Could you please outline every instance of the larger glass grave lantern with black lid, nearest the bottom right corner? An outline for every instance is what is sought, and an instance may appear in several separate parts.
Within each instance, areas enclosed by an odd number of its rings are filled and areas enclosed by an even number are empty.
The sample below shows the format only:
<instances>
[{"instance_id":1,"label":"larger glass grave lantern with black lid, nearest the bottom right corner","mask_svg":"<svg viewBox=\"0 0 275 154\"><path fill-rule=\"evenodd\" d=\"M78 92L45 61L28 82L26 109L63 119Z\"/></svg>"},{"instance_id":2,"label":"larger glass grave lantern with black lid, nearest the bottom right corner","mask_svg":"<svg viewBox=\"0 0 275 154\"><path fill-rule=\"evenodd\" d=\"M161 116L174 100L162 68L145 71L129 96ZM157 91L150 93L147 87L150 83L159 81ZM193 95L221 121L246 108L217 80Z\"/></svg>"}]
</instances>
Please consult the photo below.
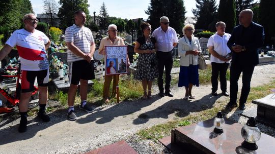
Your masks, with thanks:
<instances>
[{"instance_id":1,"label":"larger glass grave lantern with black lid, nearest the bottom right corner","mask_svg":"<svg viewBox=\"0 0 275 154\"><path fill-rule=\"evenodd\" d=\"M257 122L254 117L250 117L246 125L241 128L241 136L244 139L241 143L242 147L250 150L258 149L256 142L261 138L261 131L257 127Z\"/></svg>"}]
</instances>

